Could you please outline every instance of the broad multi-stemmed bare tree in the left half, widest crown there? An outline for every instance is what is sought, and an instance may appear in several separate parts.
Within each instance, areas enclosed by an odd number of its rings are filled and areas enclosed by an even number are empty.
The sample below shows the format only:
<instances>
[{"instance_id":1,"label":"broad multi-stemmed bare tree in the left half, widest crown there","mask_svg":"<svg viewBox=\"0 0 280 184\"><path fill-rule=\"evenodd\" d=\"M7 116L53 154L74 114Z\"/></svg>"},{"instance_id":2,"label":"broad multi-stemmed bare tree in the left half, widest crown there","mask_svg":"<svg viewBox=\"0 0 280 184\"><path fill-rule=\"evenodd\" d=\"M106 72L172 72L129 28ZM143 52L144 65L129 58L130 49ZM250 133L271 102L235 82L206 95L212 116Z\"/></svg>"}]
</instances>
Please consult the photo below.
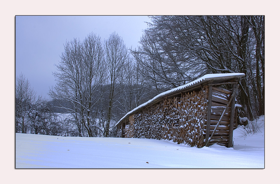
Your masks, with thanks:
<instances>
[{"instance_id":1,"label":"broad multi-stemmed bare tree in the left half, widest crown there","mask_svg":"<svg viewBox=\"0 0 280 184\"><path fill-rule=\"evenodd\" d=\"M100 98L100 84L104 80L104 52L99 36L90 33L83 42L74 39L64 45L64 52L54 73L57 85L50 96L68 103L67 110L76 121L80 136L93 136L95 124L92 109Z\"/></svg>"}]
</instances>

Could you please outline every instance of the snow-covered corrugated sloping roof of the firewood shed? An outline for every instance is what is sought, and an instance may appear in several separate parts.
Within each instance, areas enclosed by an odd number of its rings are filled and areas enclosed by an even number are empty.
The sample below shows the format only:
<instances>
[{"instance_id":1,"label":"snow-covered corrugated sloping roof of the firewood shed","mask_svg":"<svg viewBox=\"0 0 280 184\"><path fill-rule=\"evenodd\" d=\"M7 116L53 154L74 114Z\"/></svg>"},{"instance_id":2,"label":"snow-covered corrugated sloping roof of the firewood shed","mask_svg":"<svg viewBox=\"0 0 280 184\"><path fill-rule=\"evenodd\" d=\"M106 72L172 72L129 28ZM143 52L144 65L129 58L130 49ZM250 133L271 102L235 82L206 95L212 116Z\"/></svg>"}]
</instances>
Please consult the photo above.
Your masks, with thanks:
<instances>
[{"instance_id":1,"label":"snow-covered corrugated sloping roof of the firewood shed","mask_svg":"<svg viewBox=\"0 0 280 184\"><path fill-rule=\"evenodd\" d=\"M139 110L140 108L143 108L147 105L150 105L151 103L153 103L155 100L159 99L160 97L163 97L163 96L166 96L168 94L172 94L174 92L178 92L178 91L181 91L181 90L185 90L185 89L190 88L190 87L200 85L201 83L205 83L205 82L210 81L210 80L214 80L214 81L218 80L219 82L221 82L221 81L226 81L226 80L231 79L231 78L240 78L240 77L243 77L243 76L245 76L244 73L206 74L206 75L200 77L197 80L194 80L194 81L189 82L185 85L182 85L182 86L179 86L179 87L176 87L176 88L173 88L171 90L168 90L168 91L165 91L165 92L162 92L162 93L158 94L157 96L150 99L148 102L143 103L143 104L139 105L138 107L134 108L133 110L129 111L126 115L124 115L120 119L120 121L118 121L115 124L115 126L120 124L120 122L122 122L123 119L125 119L127 116L129 116L133 112L135 112L135 111Z\"/></svg>"}]
</instances>

